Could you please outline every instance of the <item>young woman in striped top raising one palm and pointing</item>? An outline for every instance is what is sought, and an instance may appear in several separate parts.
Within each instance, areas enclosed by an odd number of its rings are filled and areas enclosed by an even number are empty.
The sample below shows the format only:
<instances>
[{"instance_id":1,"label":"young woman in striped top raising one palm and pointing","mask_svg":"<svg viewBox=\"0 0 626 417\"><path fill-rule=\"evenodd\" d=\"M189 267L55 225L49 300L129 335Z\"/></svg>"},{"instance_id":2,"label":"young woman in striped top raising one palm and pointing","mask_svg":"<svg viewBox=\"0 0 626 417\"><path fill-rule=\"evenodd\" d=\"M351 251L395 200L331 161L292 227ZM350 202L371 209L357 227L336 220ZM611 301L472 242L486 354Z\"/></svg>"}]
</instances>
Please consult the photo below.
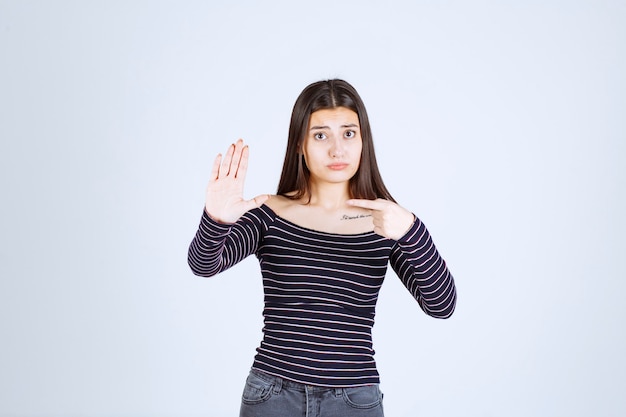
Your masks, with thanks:
<instances>
[{"instance_id":1,"label":"young woman in striped top raising one palm and pointing","mask_svg":"<svg viewBox=\"0 0 626 417\"><path fill-rule=\"evenodd\" d=\"M424 224L387 191L356 90L302 91L276 195L244 200L247 166L242 140L217 156L189 248L199 276L251 254L261 266L263 340L240 416L383 416L371 330L387 265L430 316L450 317L456 289Z\"/></svg>"}]
</instances>

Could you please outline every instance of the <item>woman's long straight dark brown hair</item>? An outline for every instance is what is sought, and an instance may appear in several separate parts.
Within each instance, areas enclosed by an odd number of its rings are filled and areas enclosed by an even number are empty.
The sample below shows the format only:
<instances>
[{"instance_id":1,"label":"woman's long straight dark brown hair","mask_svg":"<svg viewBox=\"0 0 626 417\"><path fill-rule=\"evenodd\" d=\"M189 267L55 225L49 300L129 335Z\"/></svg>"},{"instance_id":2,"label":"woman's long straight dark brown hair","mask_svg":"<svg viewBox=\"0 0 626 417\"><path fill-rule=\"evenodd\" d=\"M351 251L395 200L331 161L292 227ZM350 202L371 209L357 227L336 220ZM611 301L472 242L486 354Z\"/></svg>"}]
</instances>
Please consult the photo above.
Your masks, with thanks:
<instances>
[{"instance_id":1,"label":"woman's long straight dark brown hair","mask_svg":"<svg viewBox=\"0 0 626 417\"><path fill-rule=\"evenodd\" d=\"M359 169L349 182L350 198L370 200L384 198L395 202L378 170L372 130L363 100L352 85L339 79L310 84L298 96L291 113L287 151L276 193L294 200L304 196L310 197L310 172L300 152L308 129L309 118L318 110L337 107L346 107L354 111L359 116L361 125L363 149Z\"/></svg>"}]
</instances>

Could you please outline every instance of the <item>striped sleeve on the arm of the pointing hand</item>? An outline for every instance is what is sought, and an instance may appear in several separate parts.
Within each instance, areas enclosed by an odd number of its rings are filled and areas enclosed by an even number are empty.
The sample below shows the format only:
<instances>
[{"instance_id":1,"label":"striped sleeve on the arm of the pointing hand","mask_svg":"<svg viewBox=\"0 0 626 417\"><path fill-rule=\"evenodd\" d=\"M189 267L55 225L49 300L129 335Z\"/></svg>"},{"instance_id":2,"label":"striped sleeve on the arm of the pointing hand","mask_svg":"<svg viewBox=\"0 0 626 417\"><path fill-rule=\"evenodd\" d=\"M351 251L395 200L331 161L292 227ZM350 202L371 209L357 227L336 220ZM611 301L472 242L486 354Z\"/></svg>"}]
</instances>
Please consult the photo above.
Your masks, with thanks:
<instances>
[{"instance_id":1,"label":"striped sleeve on the arm of the pointing hand","mask_svg":"<svg viewBox=\"0 0 626 417\"><path fill-rule=\"evenodd\" d=\"M416 217L396 242L389 262L426 314L442 319L452 315L456 307L454 278L420 219Z\"/></svg>"}]
</instances>

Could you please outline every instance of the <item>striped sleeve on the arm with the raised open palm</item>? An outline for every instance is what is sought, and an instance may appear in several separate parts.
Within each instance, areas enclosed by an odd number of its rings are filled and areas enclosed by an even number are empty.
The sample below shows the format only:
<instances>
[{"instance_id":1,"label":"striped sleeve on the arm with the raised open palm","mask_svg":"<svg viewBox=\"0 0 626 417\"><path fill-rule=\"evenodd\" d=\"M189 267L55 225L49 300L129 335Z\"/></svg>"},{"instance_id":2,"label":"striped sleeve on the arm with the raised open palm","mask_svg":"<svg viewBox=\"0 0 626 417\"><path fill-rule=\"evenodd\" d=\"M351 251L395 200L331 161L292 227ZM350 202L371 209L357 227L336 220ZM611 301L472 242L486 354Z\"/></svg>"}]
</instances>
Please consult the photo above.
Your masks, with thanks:
<instances>
[{"instance_id":1,"label":"striped sleeve on the arm with the raised open palm","mask_svg":"<svg viewBox=\"0 0 626 417\"><path fill-rule=\"evenodd\" d=\"M191 271L208 278L227 270L257 251L265 230L267 213L260 208L232 224L219 223L204 211L187 254Z\"/></svg>"}]
</instances>

